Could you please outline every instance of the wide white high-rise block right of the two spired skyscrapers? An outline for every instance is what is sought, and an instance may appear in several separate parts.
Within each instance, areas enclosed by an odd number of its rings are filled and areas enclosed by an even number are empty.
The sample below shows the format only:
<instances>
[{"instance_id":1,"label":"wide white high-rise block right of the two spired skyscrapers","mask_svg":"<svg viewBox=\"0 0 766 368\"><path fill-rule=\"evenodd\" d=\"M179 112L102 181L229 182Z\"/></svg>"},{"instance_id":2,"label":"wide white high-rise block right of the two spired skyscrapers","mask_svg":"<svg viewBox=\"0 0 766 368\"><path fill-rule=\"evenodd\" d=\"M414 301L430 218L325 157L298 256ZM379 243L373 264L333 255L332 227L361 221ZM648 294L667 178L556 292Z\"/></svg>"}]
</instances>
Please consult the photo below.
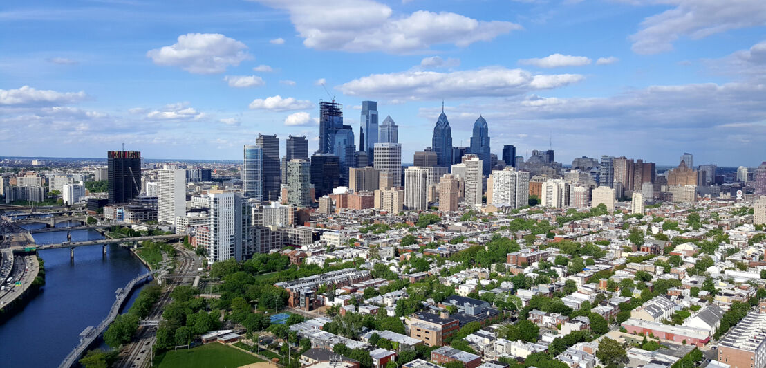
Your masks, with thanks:
<instances>
[{"instance_id":1,"label":"wide white high-rise block right of the two spired skyscrapers","mask_svg":"<svg viewBox=\"0 0 766 368\"><path fill-rule=\"evenodd\" d=\"M490 182L487 180L487 192ZM529 172L517 171L512 166L492 172L492 195L487 195L487 203L505 205L519 209L529 205Z\"/></svg>"}]
</instances>

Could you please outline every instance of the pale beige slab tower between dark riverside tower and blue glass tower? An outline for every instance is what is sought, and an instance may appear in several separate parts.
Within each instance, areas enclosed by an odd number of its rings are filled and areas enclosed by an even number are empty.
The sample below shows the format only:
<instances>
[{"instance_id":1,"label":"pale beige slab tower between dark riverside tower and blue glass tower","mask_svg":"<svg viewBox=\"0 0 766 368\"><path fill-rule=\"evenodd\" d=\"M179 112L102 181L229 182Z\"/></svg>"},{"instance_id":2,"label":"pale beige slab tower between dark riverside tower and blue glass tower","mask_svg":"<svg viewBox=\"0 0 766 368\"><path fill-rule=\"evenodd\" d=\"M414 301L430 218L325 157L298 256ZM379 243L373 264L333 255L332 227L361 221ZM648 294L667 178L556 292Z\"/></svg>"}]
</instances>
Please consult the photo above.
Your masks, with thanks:
<instances>
[{"instance_id":1,"label":"pale beige slab tower between dark riverside tower and blue glass tower","mask_svg":"<svg viewBox=\"0 0 766 368\"><path fill-rule=\"evenodd\" d=\"M157 220L175 226L175 218L186 214L186 171L157 170Z\"/></svg>"}]
</instances>

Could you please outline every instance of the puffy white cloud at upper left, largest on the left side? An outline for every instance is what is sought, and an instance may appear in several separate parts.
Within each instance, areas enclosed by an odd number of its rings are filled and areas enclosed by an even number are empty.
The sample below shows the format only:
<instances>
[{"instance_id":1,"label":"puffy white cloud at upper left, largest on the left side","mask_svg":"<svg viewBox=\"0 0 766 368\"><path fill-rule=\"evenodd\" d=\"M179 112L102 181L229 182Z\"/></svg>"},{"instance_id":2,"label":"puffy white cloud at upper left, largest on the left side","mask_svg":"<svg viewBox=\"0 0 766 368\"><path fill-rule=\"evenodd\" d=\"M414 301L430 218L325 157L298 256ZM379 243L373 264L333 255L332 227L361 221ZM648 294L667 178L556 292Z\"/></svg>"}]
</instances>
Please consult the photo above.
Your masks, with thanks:
<instances>
[{"instance_id":1,"label":"puffy white cloud at upper left, largest on the left side","mask_svg":"<svg viewBox=\"0 0 766 368\"><path fill-rule=\"evenodd\" d=\"M218 74L247 60L247 46L217 33L189 33L178 42L146 53L154 64L180 67L193 74Z\"/></svg>"}]
</instances>

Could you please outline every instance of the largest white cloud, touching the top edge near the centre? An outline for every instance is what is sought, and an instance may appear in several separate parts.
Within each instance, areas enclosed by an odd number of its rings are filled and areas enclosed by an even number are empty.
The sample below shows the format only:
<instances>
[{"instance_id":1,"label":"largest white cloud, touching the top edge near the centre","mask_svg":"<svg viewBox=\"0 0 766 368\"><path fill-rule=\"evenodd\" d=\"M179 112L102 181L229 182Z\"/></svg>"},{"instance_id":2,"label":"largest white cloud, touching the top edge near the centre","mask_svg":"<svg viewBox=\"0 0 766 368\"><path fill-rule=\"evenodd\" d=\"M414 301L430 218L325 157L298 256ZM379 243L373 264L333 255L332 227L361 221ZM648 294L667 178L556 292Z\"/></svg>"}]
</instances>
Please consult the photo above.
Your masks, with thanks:
<instances>
[{"instance_id":1,"label":"largest white cloud, touching the top edge near the centre","mask_svg":"<svg viewBox=\"0 0 766 368\"><path fill-rule=\"evenodd\" d=\"M315 0L254 1L286 10L303 44L319 50L402 54L436 44L466 47L522 29L509 21L479 21L446 11L393 15L388 5L372 0L342 0L332 6Z\"/></svg>"}]
</instances>

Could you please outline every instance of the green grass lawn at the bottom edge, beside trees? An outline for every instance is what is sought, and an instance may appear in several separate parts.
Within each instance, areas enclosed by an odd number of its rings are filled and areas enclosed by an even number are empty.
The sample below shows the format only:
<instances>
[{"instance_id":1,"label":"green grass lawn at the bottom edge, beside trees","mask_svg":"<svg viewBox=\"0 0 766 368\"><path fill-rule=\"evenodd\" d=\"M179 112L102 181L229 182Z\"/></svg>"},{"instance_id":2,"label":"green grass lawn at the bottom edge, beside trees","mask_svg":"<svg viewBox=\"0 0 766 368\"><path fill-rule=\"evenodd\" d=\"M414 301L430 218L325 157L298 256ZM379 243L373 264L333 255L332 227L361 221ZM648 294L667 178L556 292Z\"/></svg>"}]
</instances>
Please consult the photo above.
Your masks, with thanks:
<instances>
[{"instance_id":1,"label":"green grass lawn at the bottom edge, beside trees","mask_svg":"<svg viewBox=\"0 0 766 368\"><path fill-rule=\"evenodd\" d=\"M210 366L220 366L221 368L233 368L263 361L221 343L208 343L207 345L190 350L170 350L165 353L165 357L162 358L162 362L159 363L158 367L207 368Z\"/></svg>"}]
</instances>

